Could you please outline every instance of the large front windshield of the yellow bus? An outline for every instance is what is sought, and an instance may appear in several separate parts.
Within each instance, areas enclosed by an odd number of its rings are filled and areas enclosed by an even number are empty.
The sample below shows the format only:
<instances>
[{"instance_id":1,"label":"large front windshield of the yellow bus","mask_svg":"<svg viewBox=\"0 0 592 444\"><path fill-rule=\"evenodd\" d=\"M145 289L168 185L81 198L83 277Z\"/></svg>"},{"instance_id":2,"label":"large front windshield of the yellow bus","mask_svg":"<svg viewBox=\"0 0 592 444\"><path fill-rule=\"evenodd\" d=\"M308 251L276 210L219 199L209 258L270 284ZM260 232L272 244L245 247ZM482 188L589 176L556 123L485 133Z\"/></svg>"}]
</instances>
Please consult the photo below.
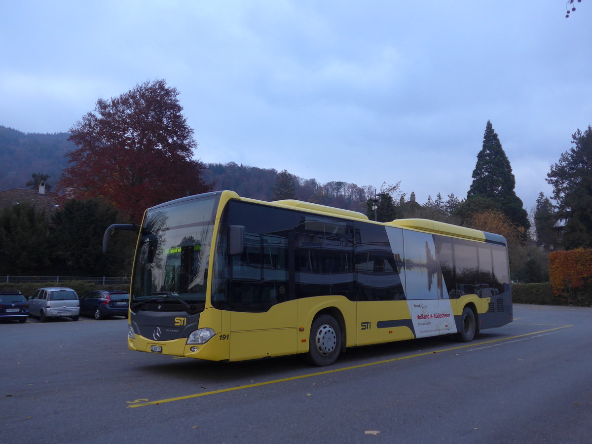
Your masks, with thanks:
<instances>
[{"instance_id":1,"label":"large front windshield of the yellow bus","mask_svg":"<svg viewBox=\"0 0 592 444\"><path fill-rule=\"evenodd\" d=\"M147 211L134 263L132 302L166 297L205 302L217 201L208 195Z\"/></svg>"}]
</instances>

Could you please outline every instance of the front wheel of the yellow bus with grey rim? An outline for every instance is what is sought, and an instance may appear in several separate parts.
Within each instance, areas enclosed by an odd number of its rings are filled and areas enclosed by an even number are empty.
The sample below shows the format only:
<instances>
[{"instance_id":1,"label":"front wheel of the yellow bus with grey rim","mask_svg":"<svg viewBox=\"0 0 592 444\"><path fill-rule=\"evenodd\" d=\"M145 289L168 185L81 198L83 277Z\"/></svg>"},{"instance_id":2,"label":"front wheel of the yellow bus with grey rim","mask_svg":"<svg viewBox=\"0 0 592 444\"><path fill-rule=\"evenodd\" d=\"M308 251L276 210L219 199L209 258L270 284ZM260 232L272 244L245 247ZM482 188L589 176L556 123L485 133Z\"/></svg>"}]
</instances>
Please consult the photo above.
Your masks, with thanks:
<instances>
[{"instance_id":1,"label":"front wheel of the yellow bus with grey rim","mask_svg":"<svg viewBox=\"0 0 592 444\"><path fill-rule=\"evenodd\" d=\"M310 327L308 359L323 367L336 361L341 350L341 328L333 316L321 314L314 318Z\"/></svg>"}]
</instances>

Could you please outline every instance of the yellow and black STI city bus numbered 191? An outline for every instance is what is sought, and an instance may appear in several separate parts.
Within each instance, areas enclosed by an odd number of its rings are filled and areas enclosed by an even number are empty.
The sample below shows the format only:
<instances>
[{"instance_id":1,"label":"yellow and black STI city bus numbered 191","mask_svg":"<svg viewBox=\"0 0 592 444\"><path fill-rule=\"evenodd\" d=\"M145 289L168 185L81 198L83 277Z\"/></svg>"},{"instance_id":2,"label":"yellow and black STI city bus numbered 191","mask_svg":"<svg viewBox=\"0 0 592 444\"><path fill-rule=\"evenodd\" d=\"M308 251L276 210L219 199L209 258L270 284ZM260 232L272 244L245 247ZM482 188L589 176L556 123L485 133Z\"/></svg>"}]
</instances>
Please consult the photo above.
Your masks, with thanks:
<instances>
[{"instance_id":1,"label":"yellow and black STI city bus numbered 191","mask_svg":"<svg viewBox=\"0 0 592 444\"><path fill-rule=\"evenodd\" d=\"M356 211L233 191L149 208L130 289L128 347L209 361L456 334L512 320L503 236L425 219L378 223Z\"/></svg>"}]
</instances>

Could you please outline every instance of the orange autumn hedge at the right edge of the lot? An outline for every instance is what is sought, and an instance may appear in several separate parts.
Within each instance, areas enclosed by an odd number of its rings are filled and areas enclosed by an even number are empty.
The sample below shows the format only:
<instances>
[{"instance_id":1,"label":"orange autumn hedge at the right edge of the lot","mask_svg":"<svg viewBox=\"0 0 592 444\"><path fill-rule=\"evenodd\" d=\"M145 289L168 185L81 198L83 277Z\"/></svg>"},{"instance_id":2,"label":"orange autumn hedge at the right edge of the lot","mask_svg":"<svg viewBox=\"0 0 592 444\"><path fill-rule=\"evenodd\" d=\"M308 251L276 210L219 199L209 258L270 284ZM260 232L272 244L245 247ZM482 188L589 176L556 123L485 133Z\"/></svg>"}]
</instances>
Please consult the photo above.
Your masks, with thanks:
<instances>
[{"instance_id":1,"label":"orange autumn hedge at the right edge of the lot","mask_svg":"<svg viewBox=\"0 0 592 444\"><path fill-rule=\"evenodd\" d=\"M565 297L568 303L574 303L574 298L587 299L592 289L592 249L550 253L549 280L554 293Z\"/></svg>"}]
</instances>

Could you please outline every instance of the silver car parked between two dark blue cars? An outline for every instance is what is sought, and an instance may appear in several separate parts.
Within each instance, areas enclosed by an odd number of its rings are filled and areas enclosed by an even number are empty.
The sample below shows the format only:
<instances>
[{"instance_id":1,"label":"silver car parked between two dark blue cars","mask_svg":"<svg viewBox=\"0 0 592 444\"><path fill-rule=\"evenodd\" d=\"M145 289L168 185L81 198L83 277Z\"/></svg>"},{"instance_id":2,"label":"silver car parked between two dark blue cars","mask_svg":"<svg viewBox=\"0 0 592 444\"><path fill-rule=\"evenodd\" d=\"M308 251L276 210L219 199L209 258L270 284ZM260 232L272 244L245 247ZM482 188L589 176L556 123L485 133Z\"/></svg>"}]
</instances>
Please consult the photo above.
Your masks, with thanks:
<instances>
[{"instance_id":1,"label":"silver car parked between two dark blue cars","mask_svg":"<svg viewBox=\"0 0 592 444\"><path fill-rule=\"evenodd\" d=\"M29 300L29 313L38 316L41 322L50 317L71 317L78 321L80 301L72 288L46 287L38 289Z\"/></svg>"}]
</instances>

